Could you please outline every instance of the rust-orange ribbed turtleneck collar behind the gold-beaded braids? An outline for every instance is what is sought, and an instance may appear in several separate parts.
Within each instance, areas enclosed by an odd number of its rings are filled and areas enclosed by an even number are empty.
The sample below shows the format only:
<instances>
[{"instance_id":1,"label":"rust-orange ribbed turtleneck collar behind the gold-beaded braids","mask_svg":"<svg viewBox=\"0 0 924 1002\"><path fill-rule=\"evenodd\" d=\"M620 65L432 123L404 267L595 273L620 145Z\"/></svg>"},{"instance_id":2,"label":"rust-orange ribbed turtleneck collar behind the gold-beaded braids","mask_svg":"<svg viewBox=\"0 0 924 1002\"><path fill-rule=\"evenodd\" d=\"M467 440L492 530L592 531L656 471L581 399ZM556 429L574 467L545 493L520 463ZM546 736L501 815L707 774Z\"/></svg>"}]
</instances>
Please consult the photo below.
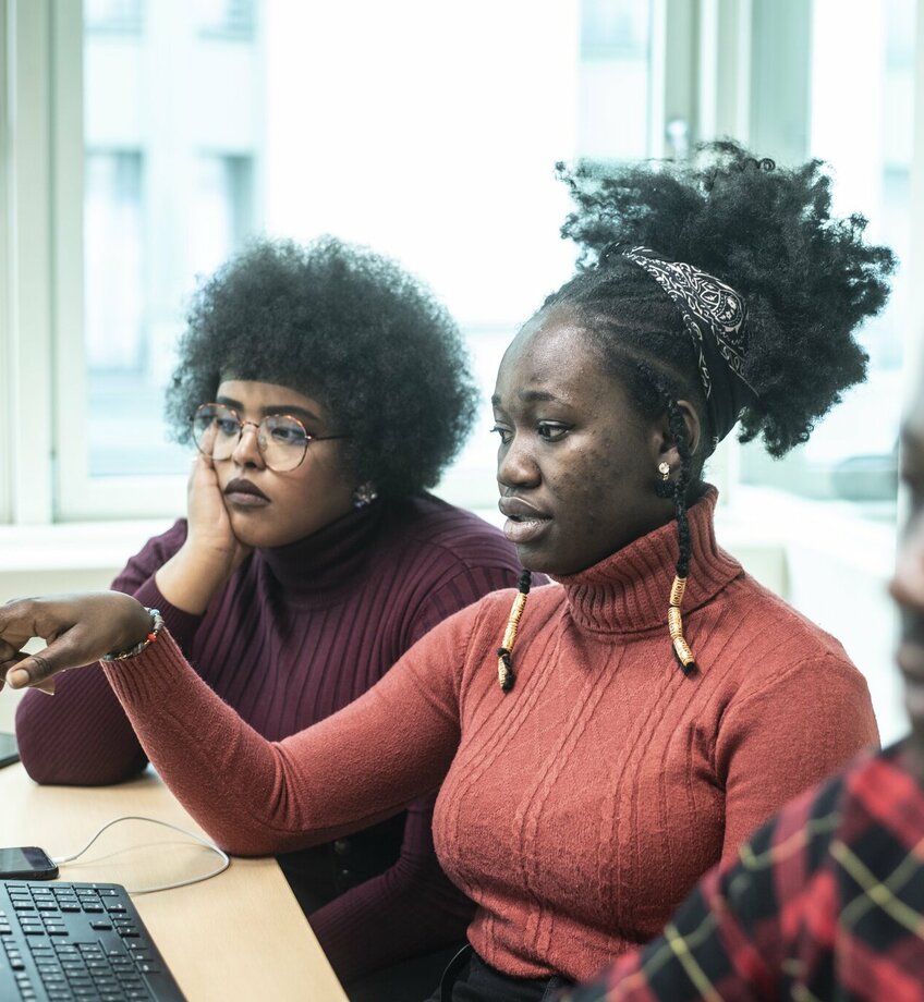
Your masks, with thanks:
<instances>
[{"instance_id":1,"label":"rust-orange ribbed turtleneck collar behind the gold-beaded braids","mask_svg":"<svg viewBox=\"0 0 924 1002\"><path fill-rule=\"evenodd\" d=\"M709 487L689 510L692 551L684 613L707 602L741 573L741 564L716 543L713 514L717 499L718 491ZM671 521L586 571L557 578L572 619L594 633L662 627L678 552L677 523Z\"/></svg>"}]
</instances>

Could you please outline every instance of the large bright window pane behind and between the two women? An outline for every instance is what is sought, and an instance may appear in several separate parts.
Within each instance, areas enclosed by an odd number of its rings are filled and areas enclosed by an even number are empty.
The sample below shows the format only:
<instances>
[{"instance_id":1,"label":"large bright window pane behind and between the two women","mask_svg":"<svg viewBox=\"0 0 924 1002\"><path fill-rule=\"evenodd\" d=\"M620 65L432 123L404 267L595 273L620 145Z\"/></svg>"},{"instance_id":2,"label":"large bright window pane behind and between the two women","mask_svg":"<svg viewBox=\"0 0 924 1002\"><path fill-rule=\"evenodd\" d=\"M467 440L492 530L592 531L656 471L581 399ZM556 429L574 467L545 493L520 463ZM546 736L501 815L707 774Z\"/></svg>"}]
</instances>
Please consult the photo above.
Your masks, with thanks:
<instances>
[{"instance_id":1,"label":"large bright window pane behind and between the two women","mask_svg":"<svg viewBox=\"0 0 924 1002\"><path fill-rule=\"evenodd\" d=\"M552 168L651 151L651 9L87 0L90 478L187 468L161 414L197 277L251 233L329 232L460 321L485 405L442 491L493 506L497 365L574 259Z\"/></svg>"}]
</instances>

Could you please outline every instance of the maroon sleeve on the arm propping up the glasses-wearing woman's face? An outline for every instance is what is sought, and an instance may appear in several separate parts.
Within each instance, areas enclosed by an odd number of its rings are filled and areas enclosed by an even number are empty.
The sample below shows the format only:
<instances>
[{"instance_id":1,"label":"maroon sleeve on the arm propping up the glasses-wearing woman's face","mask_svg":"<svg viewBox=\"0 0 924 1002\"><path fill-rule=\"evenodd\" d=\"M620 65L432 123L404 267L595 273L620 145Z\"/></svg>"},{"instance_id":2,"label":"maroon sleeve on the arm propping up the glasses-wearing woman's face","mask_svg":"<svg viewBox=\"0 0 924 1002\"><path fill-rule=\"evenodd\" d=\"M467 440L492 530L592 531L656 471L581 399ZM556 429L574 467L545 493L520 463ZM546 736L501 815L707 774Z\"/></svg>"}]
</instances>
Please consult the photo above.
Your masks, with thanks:
<instances>
[{"instance_id":1,"label":"maroon sleeve on the arm propping up the glasses-wearing woman's face","mask_svg":"<svg viewBox=\"0 0 924 1002\"><path fill-rule=\"evenodd\" d=\"M185 539L185 522L148 540L112 584L161 610L180 636L187 620L173 615L157 591L154 574ZM38 691L25 694L16 710L16 736L26 772L38 783L99 786L137 774L147 765L125 712L105 676L92 668L75 669L57 680L53 698Z\"/></svg>"}]
</instances>

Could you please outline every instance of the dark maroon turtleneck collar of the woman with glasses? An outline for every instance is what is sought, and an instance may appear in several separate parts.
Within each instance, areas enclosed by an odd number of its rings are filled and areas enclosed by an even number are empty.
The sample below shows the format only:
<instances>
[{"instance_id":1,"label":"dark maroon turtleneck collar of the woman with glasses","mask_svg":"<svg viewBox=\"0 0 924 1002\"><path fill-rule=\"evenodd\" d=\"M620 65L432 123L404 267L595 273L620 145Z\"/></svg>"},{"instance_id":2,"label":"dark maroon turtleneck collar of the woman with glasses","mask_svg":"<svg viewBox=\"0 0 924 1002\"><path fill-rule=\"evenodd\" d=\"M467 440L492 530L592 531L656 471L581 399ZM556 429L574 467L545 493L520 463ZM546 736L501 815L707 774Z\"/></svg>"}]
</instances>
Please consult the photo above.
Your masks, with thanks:
<instances>
[{"instance_id":1,"label":"dark maroon turtleneck collar of the woman with glasses","mask_svg":"<svg viewBox=\"0 0 924 1002\"><path fill-rule=\"evenodd\" d=\"M287 588L331 595L353 579L384 517L385 503L374 501L304 539L262 549L257 557Z\"/></svg>"}]
</instances>

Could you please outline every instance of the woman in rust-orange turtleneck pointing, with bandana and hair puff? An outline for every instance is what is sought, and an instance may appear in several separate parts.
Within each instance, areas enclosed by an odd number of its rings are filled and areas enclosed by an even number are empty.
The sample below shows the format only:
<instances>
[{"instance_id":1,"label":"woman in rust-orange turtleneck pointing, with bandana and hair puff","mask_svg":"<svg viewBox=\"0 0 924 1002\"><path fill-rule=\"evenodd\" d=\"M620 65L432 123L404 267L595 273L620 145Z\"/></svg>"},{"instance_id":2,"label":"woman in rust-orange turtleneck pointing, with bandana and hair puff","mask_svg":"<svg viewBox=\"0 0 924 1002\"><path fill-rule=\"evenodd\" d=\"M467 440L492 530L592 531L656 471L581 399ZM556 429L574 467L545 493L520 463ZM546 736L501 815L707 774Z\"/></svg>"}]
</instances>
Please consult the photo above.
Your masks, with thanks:
<instances>
[{"instance_id":1,"label":"woman in rust-orange turtleneck pointing, with bandana and hair puff","mask_svg":"<svg viewBox=\"0 0 924 1002\"><path fill-rule=\"evenodd\" d=\"M538 1000L593 976L876 742L837 640L717 546L701 475L737 423L781 454L863 378L853 331L885 302L892 257L859 217L831 217L818 163L771 170L731 144L704 159L562 171L582 262L508 349L493 401L504 530L557 584L527 597L524 575L457 613L278 744L131 598L0 610L15 687L129 655L105 663L109 683L231 852L336 838L441 784L437 853L477 913L434 999ZM52 643L19 652L33 634ZM219 781L234 810L216 810Z\"/></svg>"}]
</instances>

